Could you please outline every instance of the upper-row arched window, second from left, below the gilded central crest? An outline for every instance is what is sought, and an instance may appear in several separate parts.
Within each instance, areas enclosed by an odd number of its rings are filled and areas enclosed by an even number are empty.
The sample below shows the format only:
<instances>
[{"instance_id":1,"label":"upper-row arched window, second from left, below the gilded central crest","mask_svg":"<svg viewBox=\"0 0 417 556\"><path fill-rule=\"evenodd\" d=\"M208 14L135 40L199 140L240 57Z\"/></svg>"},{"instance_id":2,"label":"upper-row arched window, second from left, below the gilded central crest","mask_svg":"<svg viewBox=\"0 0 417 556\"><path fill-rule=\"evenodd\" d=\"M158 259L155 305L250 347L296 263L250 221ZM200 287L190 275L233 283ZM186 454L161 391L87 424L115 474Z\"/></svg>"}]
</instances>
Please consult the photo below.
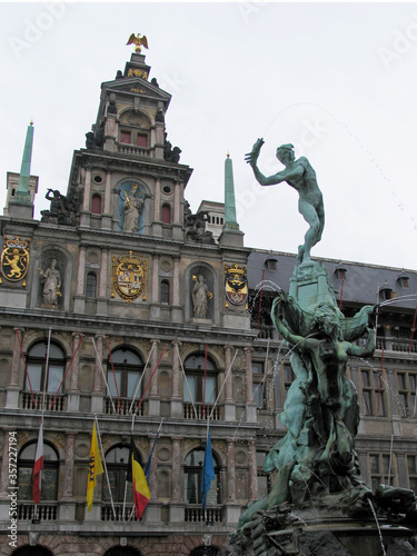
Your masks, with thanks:
<instances>
[{"instance_id":1,"label":"upper-row arched window, second from left, below the gilded central crest","mask_svg":"<svg viewBox=\"0 0 417 556\"><path fill-rule=\"evenodd\" d=\"M119 396L122 398L136 396L138 399L141 394L141 388L138 389L138 386L143 371L141 357L131 349L119 348L111 354L111 359L115 374L111 368L110 357L107 363L107 381L111 396L117 397L117 391L119 391Z\"/></svg>"}]
</instances>

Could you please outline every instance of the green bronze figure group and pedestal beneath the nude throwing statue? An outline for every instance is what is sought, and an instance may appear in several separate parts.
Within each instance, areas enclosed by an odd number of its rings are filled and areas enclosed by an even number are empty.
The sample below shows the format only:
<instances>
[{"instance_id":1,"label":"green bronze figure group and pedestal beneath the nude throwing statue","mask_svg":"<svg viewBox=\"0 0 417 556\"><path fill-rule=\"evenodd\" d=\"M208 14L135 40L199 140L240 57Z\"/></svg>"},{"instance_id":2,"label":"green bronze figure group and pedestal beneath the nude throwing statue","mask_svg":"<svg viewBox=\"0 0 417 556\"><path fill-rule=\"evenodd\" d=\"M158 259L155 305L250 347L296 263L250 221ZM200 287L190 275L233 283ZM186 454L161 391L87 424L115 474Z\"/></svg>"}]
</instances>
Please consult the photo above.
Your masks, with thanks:
<instances>
[{"instance_id":1,"label":"green bronze figure group and pedestal beneath the nude throwing statue","mask_svg":"<svg viewBox=\"0 0 417 556\"><path fill-rule=\"evenodd\" d=\"M368 357L375 350L374 307L346 318L320 262L296 267L291 289L298 299L280 292L271 310L296 376L280 415L288 431L265 461L266 471L278 471L270 494L249 506L239 528L257 512L284 503L300 507L328 498L360 505L370 496L355 453L359 406L346 367L349 356ZM364 336L365 345L355 344Z\"/></svg>"}]
</instances>

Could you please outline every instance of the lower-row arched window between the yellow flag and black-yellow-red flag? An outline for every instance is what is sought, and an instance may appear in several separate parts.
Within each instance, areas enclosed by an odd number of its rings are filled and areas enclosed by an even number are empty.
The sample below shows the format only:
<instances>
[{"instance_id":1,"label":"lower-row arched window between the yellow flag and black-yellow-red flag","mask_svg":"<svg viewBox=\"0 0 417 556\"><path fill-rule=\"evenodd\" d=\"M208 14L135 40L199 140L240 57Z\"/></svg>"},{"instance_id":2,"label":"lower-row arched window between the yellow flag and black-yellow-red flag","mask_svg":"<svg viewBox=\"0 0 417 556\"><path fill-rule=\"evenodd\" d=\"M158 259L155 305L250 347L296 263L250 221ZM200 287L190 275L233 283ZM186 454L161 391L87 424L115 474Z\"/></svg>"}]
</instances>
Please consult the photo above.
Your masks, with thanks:
<instances>
[{"instance_id":1,"label":"lower-row arched window between the yellow flag and black-yellow-red flag","mask_svg":"<svg viewBox=\"0 0 417 556\"><path fill-rule=\"evenodd\" d=\"M131 510L131 504L133 502L133 489L132 484L126 481L126 476L129 467L129 446L119 445L111 448L106 454L106 466L107 473L109 475L109 483L111 488L111 496L113 502L125 500L125 488L126 488L126 502L130 504L129 514ZM145 469L142 461L139 464ZM109 487L107 481L102 483L102 499L103 502L110 502Z\"/></svg>"}]
</instances>

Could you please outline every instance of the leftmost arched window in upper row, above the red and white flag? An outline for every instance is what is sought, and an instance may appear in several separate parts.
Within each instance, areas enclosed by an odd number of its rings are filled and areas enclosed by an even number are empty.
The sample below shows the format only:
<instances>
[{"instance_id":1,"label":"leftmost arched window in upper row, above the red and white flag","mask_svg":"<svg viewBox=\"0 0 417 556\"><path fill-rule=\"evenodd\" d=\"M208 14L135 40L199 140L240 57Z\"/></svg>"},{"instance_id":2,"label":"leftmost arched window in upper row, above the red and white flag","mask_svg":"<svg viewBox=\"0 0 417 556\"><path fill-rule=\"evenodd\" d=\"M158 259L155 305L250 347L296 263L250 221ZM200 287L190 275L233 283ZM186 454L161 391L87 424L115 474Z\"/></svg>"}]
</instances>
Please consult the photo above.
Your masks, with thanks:
<instances>
[{"instance_id":1,"label":"leftmost arched window in upper row, above the red and white flag","mask_svg":"<svg viewBox=\"0 0 417 556\"><path fill-rule=\"evenodd\" d=\"M61 384L63 370L66 366L66 356L60 347L56 344L50 344L49 346L49 359L48 369L47 367L48 357L48 341L38 341L28 351L27 355L27 367L30 379L30 385L28 377L24 377L24 389L30 390L30 386L33 391L42 391L46 381L46 391L56 393ZM47 379L47 380L46 380Z\"/></svg>"}]
</instances>

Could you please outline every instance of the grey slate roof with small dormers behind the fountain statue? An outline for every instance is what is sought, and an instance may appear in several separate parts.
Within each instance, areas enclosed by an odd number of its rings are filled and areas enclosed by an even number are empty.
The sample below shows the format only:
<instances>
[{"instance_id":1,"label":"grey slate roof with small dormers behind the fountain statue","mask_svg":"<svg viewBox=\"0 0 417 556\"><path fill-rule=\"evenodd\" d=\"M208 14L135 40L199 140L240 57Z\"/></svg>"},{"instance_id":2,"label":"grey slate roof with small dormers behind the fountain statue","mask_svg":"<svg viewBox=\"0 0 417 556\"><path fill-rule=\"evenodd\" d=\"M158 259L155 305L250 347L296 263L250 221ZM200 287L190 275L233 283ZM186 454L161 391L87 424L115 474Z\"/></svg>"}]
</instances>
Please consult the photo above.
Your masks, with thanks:
<instances>
[{"instance_id":1,"label":"grey slate roof with small dormers behind the fountain statue","mask_svg":"<svg viewBox=\"0 0 417 556\"><path fill-rule=\"evenodd\" d=\"M271 270L265 265L268 259L276 259L276 269ZM335 288L336 298L339 298L341 280L337 278L335 269L340 265L340 260L319 259L311 257L311 260L321 261L325 266L330 282ZM248 260L248 284L249 288L255 289L261 281L262 268L265 268L264 281L265 290L272 290L271 282L289 290L289 279L292 276L294 267L297 264L297 257L294 254L285 254L267 250L254 250ZM404 269L383 267L376 265L367 265L359 262L342 261L346 269L346 280L344 281L344 302L370 304L377 302L378 286L381 288L388 285L389 288L398 296L395 304L389 305L389 309L398 310L401 308L416 309L416 298L410 298L417 294L417 270L407 270L408 287L403 287L398 282L398 275L404 272ZM269 281L268 281L269 280ZM381 299L380 299L381 300Z\"/></svg>"}]
</instances>

